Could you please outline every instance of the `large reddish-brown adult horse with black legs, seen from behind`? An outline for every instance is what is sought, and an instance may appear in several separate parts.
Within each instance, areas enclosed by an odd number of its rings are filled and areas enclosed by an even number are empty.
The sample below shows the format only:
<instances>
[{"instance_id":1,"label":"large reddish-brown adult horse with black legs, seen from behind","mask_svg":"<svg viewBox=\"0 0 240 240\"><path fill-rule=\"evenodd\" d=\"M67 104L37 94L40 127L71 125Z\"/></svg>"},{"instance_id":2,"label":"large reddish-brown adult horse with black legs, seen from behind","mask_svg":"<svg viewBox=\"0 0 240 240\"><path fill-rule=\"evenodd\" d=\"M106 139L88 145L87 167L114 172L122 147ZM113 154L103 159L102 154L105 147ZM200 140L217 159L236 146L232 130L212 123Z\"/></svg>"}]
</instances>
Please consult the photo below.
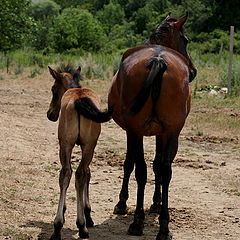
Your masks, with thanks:
<instances>
[{"instance_id":1,"label":"large reddish-brown adult horse with black legs, seen from behind","mask_svg":"<svg viewBox=\"0 0 240 240\"><path fill-rule=\"evenodd\" d=\"M172 238L168 228L171 164L177 153L179 134L190 111L189 82L197 73L187 52L188 39L183 33L187 16L176 19L169 14L145 45L127 50L109 91L108 104L114 109L113 119L127 133L124 179L114 209L116 214L126 213L128 182L135 165L138 189L134 222L128 230L131 235L141 235L144 226L147 168L143 136L156 136L152 209L160 208L157 240Z\"/></svg>"}]
</instances>

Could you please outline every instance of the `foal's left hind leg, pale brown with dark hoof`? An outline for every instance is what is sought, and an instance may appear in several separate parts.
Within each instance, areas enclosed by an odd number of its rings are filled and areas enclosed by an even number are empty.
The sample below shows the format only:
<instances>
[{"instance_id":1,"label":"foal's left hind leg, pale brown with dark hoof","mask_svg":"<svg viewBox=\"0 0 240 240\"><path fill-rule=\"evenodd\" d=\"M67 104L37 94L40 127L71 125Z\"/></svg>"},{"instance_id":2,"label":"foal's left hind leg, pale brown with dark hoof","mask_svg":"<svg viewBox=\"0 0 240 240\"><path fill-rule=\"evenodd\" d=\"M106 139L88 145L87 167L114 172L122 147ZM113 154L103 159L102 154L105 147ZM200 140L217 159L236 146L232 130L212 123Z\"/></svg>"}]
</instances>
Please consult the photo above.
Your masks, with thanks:
<instances>
[{"instance_id":1,"label":"foal's left hind leg, pale brown with dark hoof","mask_svg":"<svg viewBox=\"0 0 240 240\"><path fill-rule=\"evenodd\" d=\"M61 239L61 229L64 224L64 212L66 211L66 193L69 182L72 176L71 154L73 146L64 146L60 143L60 161L62 169L59 175L60 198L58 203L57 215L54 220L54 233L51 236L53 239Z\"/></svg>"}]
</instances>

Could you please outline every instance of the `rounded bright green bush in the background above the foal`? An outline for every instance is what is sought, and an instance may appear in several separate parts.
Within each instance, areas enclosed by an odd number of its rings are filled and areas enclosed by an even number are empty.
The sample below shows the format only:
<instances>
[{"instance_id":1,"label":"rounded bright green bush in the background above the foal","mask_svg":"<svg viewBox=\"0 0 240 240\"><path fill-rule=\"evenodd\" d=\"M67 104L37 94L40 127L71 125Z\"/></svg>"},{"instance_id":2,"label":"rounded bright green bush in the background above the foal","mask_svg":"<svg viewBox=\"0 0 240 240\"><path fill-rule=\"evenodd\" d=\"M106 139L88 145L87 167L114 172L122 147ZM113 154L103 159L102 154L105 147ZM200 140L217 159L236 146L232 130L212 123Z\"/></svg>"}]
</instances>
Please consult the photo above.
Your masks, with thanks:
<instances>
[{"instance_id":1,"label":"rounded bright green bush in the background above the foal","mask_svg":"<svg viewBox=\"0 0 240 240\"><path fill-rule=\"evenodd\" d=\"M54 19L52 47L59 52L71 48L98 51L103 47L106 36L100 23L84 9L66 8Z\"/></svg>"}]
</instances>

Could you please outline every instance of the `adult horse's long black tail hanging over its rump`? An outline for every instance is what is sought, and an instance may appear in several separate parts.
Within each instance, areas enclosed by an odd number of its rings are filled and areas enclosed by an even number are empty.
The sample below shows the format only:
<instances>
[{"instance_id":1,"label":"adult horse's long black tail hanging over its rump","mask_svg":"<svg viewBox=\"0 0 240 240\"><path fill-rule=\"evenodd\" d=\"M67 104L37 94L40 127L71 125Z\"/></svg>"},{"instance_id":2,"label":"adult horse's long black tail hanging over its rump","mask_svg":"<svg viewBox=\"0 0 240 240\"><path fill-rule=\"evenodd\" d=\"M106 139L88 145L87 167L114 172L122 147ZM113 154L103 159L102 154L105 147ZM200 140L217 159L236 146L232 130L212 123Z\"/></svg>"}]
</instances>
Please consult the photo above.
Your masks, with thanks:
<instances>
[{"instance_id":1,"label":"adult horse's long black tail hanging over its rump","mask_svg":"<svg viewBox=\"0 0 240 240\"><path fill-rule=\"evenodd\" d=\"M130 108L128 115L137 114L146 103L150 92L152 91L153 108L155 108L157 99L160 95L162 86L162 76L167 69L165 60L158 56L151 58L146 67L150 69L148 77L143 82L142 89L133 100L133 106Z\"/></svg>"}]
</instances>

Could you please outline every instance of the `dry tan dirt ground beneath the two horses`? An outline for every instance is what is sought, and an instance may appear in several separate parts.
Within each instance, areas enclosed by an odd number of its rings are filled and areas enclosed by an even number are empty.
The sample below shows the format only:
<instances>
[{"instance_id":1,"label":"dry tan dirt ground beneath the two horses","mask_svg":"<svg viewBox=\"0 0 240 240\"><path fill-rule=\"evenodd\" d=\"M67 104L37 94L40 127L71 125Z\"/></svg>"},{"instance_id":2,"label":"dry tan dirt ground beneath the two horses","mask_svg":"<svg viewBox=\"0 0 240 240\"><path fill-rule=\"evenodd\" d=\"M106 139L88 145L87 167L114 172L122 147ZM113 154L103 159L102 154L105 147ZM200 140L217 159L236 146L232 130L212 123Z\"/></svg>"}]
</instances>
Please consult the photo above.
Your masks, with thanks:
<instances>
[{"instance_id":1,"label":"dry tan dirt ground beneath the two horses","mask_svg":"<svg viewBox=\"0 0 240 240\"><path fill-rule=\"evenodd\" d=\"M49 239L53 231L60 164L57 123L46 117L51 85L47 71L35 78L28 78L27 74L4 74L4 79L0 80L0 239ZM98 89L98 81L92 85ZM103 86L107 89L109 82ZM106 96L101 98L104 108ZM173 164L169 192L173 239L238 240L240 138L196 136L191 129L187 122ZM121 187L125 151L125 132L113 120L103 124L91 164L90 200L95 226L89 229L90 240L156 238L158 216L148 214L154 188L154 138L145 139L148 181L144 235L127 235L136 202L134 174L129 186L129 214L113 214ZM80 158L81 151L76 146L73 169ZM74 175L67 204L63 239L77 239Z\"/></svg>"}]
</instances>

